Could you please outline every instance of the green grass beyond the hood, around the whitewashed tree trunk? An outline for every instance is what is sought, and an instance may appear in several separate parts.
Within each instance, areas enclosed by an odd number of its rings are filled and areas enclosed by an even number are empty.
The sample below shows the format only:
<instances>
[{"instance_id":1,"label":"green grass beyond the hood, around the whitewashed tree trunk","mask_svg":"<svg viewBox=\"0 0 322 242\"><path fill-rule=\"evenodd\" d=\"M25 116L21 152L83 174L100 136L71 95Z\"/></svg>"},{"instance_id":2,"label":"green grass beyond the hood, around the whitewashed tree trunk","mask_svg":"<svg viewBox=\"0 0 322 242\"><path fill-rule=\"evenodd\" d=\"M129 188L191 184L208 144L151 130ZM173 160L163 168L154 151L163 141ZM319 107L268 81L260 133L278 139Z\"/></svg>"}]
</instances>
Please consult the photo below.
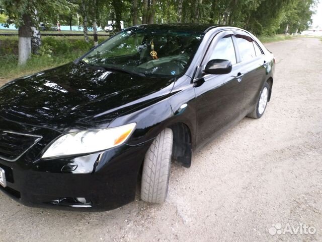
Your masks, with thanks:
<instances>
[{"instance_id":1,"label":"green grass beyond the hood, around the whitewashed tree trunk","mask_svg":"<svg viewBox=\"0 0 322 242\"><path fill-rule=\"evenodd\" d=\"M107 39L99 36L99 42ZM24 66L18 66L18 36L0 36L0 82L36 73L71 62L94 46L83 36L43 36L39 55L32 55Z\"/></svg>"}]
</instances>

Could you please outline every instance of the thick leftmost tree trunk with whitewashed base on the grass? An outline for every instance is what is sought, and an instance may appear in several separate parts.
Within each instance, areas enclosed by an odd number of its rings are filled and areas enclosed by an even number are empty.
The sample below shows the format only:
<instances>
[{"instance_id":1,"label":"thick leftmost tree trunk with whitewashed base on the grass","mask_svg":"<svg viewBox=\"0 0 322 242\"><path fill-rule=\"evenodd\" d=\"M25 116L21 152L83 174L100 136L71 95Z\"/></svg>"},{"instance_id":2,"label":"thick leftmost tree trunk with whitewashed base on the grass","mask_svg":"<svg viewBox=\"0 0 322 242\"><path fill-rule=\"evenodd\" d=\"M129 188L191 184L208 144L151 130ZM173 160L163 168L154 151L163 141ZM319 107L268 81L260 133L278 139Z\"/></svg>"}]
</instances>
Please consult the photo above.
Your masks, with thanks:
<instances>
[{"instance_id":1,"label":"thick leftmost tree trunk with whitewashed base on the grass","mask_svg":"<svg viewBox=\"0 0 322 242\"><path fill-rule=\"evenodd\" d=\"M18 65L26 64L31 54L31 17L23 15L24 23L19 27L19 54Z\"/></svg>"}]
</instances>

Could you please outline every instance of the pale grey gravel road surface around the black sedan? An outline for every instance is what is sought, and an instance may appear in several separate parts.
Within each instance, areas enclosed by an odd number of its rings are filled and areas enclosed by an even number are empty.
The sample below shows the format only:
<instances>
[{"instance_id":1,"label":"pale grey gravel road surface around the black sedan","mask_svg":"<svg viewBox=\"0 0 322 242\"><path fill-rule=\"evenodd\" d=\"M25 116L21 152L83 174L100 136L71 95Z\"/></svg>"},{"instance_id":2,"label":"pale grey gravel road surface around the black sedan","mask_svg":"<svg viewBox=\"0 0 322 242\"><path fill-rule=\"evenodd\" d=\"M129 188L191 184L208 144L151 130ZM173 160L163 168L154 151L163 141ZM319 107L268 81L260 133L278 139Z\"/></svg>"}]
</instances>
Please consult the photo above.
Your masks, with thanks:
<instances>
[{"instance_id":1,"label":"pale grey gravel road surface around the black sedan","mask_svg":"<svg viewBox=\"0 0 322 242\"><path fill-rule=\"evenodd\" d=\"M195 153L191 168L173 165L165 204L82 213L0 194L0 241L322 241L322 42L267 47L277 68L265 115Z\"/></svg>"}]
</instances>

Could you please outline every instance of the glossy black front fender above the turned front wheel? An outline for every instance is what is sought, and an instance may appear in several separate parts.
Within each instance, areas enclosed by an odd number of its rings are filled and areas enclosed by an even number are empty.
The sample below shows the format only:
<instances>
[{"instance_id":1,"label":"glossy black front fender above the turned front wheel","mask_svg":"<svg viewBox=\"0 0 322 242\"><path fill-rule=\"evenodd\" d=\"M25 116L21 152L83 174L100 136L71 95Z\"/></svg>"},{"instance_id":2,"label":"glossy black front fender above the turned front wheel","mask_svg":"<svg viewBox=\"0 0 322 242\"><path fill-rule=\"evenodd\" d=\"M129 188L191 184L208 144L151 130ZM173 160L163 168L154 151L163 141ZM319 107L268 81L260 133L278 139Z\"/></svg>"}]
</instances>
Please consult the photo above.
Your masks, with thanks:
<instances>
[{"instance_id":1,"label":"glossy black front fender above the turned front wheel","mask_svg":"<svg viewBox=\"0 0 322 242\"><path fill-rule=\"evenodd\" d=\"M150 141L165 128L182 123L190 131L194 149L196 133L195 91L190 79L187 77L180 78L172 92L162 100L115 118L109 128L133 122L136 123L136 130L126 142L128 145L138 145Z\"/></svg>"}]
</instances>

